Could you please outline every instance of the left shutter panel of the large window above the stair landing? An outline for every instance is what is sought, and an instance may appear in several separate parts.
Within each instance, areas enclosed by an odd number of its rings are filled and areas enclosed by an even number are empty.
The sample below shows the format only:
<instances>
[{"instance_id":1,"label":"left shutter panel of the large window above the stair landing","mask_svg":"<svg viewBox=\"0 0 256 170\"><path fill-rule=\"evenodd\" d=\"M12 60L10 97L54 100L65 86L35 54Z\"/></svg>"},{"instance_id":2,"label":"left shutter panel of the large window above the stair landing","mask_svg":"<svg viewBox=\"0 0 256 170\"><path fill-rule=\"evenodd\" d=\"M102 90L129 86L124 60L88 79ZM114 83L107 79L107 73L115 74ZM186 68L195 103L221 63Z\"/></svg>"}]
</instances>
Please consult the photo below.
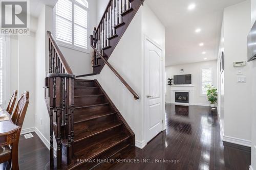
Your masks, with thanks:
<instances>
[{"instance_id":1,"label":"left shutter panel of the large window above the stair landing","mask_svg":"<svg viewBox=\"0 0 256 170\"><path fill-rule=\"evenodd\" d=\"M72 2L59 0L56 5L56 39L72 44Z\"/></svg>"}]
</instances>

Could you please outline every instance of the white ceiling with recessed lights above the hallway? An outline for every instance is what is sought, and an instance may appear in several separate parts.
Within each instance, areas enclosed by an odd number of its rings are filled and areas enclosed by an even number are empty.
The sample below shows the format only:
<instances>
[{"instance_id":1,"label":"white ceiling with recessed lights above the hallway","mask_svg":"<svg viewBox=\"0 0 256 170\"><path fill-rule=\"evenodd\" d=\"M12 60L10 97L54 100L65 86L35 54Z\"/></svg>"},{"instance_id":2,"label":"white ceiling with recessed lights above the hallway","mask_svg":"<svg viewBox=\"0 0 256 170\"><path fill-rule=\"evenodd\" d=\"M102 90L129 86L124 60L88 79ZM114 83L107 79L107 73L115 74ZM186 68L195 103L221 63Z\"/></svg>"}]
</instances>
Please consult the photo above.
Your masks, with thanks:
<instances>
[{"instance_id":1,"label":"white ceiling with recessed lights above the hallway","mask_svg":"<svg viewBox=\"0 0 256 170\"><path fill-rule=\"evenodd\" d=\"M146 0L165 26L165 65L217 59L223 9L243 1ZM196 8L189 11L193 3ZM202 31L195 33L197 28ZM201 42L204 46L199 46Z\"/></svg>"}]
</instances>

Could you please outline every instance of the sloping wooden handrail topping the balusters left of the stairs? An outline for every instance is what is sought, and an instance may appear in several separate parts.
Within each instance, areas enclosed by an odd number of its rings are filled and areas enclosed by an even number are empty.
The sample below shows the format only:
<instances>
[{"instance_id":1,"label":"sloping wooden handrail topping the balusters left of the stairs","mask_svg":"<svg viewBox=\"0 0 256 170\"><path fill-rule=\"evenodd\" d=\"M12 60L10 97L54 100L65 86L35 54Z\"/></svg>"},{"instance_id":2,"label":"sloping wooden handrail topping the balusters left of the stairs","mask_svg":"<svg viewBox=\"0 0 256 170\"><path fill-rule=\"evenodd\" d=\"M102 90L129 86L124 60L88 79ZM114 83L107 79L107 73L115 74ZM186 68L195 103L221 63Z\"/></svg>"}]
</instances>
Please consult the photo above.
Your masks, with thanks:
<instances>
[{"instance_id":1,"label":"sloping wooden handrail topping the balusters left of the stairs","mask_svg":"<svg viewBox=\"0 0 256 170\"><path fill-rule=\"evenodd\" d=\"M60 48L55 40L55 38L53 38L53 35L50 31L47 31L47 35L49 37L49 40L51 41L53 47L54 47L54 50L62 64L62 66L64 67L64 69L66 70L67 74L72 74L73 75L73 72L68 64L68 62L66 61L65 57L63 56L63 54L61 53L60 51Z\"/></svg>"}]
</instances>

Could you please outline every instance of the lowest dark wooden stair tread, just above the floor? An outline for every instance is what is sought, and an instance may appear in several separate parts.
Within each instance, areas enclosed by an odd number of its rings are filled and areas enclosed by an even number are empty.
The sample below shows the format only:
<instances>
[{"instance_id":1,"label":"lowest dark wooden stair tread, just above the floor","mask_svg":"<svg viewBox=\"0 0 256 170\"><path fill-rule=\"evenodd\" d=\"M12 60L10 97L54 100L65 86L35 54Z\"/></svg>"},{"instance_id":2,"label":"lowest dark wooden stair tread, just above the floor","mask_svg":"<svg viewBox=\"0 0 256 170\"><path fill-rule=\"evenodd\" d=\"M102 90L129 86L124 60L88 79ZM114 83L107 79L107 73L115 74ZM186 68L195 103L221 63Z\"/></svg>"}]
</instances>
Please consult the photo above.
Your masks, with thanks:
<instances>
[{"instance_id":1,"label":"lowest dark wooden stair tread, just above the floor","mask_svg":"<svg viewBox=\"0 0 256 170\"><path fill-rule=\"evenodd\" d=\"M125 133L110 135L109 137L103 140L96 141L90 147L87 147L75 153L75 158L92 159L97 155L105 152L106 150L114 147L115 145L121 143L122 141L128 139L129 137L130 135L127 135Z\"/></svg>"}]
</instances>

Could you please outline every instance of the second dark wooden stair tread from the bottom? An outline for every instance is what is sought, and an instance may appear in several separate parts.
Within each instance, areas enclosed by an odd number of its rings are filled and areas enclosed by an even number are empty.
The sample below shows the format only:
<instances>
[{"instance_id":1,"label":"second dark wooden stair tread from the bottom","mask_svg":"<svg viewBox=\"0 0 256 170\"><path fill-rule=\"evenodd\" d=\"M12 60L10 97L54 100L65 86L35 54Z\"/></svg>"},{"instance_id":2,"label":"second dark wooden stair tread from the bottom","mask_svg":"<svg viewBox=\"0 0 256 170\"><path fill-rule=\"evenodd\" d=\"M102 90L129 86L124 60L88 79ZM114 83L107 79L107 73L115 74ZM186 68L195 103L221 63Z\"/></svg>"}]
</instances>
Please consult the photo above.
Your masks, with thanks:
<instances>
[{"instance_id":1,"label":"second dark wooden stair tread from the bottom","mask_svg":"<svg viewBox=\"0 0 256 170\"><path fill-rule=\"evenodd\" d=\"M90 127L88 129L84 129L84 130L81 130L81 132L75 132L74 134L74 142L79 142L81 140L84 140L84 139L87 139L91 136L94 136L94 135L98 135L102 132L105 132L107 130L110 130L110 129L113 129L113 128L116 128L118 126L121 126L123 123L121 122L111 122L111 123L108 123L108 124L103 124L103 125L98 125L96 124L95 126L93 127Z\"/></svg>"}]
</instances>

